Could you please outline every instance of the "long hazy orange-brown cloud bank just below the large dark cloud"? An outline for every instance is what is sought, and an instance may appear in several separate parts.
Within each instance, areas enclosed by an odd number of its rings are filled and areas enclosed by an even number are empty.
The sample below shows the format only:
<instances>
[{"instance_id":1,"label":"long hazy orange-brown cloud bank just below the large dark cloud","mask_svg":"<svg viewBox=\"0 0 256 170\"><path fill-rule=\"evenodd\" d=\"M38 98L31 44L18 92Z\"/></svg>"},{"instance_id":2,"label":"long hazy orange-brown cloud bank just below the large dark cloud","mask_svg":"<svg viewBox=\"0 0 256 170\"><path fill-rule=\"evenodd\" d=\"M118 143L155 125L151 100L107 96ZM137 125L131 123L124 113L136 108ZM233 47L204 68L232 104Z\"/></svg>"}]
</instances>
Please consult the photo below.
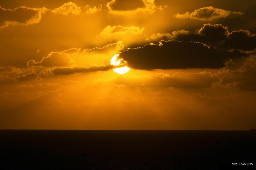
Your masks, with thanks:
<instances>
[{"instance_id":1,"label":"long hazy orange-brown cloud bank just below the large dark cloud","mask_svg":"<svg viewBox=\"0 0 256 170\"><path fill-rule=\"evenodd\" d=\"M219 81L215 74L210 72L201 72L186 74L177 72L170 76L169 74L156 73L148 74L140 77L135 76L118 76L114 83L122 84L129 87L151 87L151 88L207 88L213 83Z\"/></svg>"}]
</instances>

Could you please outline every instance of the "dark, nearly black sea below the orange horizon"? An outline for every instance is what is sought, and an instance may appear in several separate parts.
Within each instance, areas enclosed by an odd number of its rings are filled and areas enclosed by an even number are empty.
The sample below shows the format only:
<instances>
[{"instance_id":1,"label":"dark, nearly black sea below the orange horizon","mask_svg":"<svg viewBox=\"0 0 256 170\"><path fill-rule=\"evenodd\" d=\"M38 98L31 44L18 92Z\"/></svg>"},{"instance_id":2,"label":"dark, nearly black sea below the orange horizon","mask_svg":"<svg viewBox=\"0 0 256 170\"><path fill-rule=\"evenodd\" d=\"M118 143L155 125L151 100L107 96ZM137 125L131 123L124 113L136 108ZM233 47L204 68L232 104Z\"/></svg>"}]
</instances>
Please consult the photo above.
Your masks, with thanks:
<instances>
[{"instance_id":1,"label":"dark, nearly black sea below the orange horizon","mask_svg":"<svg viewBox=\"0 0 256 170\"><path fill-rule=\"evenodd\" d=\"M255 151L250 131L0 130L1 170L256 169L231 165Z\"/></svg>"}]
</instances>

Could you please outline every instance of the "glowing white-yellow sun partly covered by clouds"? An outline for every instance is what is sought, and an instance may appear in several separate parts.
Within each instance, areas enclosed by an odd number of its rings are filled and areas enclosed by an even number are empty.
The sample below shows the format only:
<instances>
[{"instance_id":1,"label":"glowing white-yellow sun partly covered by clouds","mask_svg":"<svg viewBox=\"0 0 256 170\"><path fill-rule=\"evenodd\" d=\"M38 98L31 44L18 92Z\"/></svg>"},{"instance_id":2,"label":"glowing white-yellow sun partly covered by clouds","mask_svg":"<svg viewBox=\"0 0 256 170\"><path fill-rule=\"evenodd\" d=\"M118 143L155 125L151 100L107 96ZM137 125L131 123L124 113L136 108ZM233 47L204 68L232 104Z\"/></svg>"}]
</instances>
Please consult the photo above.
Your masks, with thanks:
<instances>
[{"instance_id":1,"label":"glowing white-yellow sun partly covered by clouds","mask_svg":"<svg viewBox=\"0 0 256 170\"><path fill-rule=\"evenodd\" d=\"M117 59L117 56L119 56L119 54L116 54L116 55L113 56L113 58L110 61L110 65L113 65L113 66L122 66L122 65L124 65L124 67L118 67L118 68L115 68L113 70L118 74L124 74L124 73L128 72L131 68L126 66L127 62L124 61L123 58Z\"/></svg>"}]
</instances>

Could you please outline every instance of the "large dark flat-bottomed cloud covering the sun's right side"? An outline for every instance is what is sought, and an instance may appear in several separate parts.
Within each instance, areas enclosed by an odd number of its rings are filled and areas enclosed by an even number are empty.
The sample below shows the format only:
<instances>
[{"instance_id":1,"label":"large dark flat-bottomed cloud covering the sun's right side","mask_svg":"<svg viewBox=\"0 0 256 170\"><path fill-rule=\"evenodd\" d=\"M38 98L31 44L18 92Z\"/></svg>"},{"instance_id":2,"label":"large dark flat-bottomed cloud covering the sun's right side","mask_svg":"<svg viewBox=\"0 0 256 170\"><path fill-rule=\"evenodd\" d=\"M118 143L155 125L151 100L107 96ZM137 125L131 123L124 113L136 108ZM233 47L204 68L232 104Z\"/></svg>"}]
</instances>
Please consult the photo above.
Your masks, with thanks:
<instances>
[{"instance_id":1,"label":"large dark flat-bottomed cloud covering the sun's right side","mask_svg":"<svg viewBox=\"0 0 256 170\"><path fill-rule=\"evenodd\" d=\"M127 49L119 58L133 69L221 68L225 58L213 46L198 42L160 41L159 45Z\"/></svg>"}]
</instances>

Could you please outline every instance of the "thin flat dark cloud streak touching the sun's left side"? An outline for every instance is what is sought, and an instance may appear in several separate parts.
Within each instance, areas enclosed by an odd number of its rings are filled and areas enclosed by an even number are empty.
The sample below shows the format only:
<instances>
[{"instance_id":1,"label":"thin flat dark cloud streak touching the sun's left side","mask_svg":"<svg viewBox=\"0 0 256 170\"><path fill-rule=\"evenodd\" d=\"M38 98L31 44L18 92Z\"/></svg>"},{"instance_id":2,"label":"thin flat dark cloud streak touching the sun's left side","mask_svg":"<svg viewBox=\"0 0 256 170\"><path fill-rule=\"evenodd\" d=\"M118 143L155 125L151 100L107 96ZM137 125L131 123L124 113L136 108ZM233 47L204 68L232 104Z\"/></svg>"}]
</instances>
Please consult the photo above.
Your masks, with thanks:
<instances>
[{"instance_id":1,"label":"thin flat dark cloud streak touching the sun's left side","mask_svg":"<svg viewBox=\"0 0 256 170\"><path fill-rule=\"evenodd\" d=\"M73 67L73 68L55 68L51 72L54 75L69 75L75 73L89 73L95 71L107 71L112 69L113 66L91 66L91 67Z\"/></svg>"}]
</instances>

